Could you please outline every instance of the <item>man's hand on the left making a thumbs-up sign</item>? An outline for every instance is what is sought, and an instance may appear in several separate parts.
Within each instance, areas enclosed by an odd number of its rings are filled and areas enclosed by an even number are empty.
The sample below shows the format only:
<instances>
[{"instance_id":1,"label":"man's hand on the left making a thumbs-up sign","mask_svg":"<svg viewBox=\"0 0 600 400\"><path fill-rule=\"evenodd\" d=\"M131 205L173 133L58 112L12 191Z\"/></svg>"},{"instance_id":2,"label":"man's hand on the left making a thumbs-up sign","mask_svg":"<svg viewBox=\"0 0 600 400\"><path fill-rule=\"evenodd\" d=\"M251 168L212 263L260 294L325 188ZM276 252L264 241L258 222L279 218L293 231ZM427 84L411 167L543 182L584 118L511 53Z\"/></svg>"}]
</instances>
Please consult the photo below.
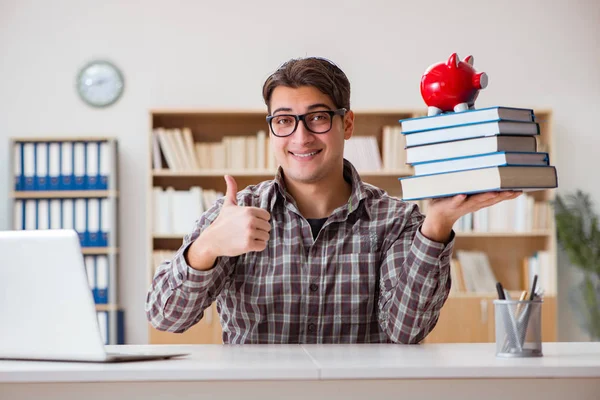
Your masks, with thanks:
<instances>
[{"instance_id":1,"label":"man's hand on the left making a thumbs-up sign","mask_svg":"<svg viewBox=\"0 0 600 400\"><path fill-rule=\"evenodd\" d=\"M267 247L271 214L258 207L237 205L237 183L226 175L227 191L219 216L202 233L209 239L211 252L218 256L235 257Z\"/></svg>"}]
</instances>

